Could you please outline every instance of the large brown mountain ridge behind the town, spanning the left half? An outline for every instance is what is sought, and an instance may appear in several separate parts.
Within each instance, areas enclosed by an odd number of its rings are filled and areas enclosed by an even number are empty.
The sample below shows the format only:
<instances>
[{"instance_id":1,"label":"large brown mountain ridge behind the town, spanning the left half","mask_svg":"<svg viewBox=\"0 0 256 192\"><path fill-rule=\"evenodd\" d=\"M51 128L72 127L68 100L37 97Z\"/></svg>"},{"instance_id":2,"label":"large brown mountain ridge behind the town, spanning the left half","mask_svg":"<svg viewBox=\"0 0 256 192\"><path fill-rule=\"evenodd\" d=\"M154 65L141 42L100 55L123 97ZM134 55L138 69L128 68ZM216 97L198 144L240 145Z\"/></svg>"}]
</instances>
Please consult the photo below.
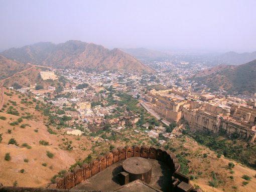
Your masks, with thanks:
<instances>
[{"instance_id":1,"label":"large brown mountain ridge behind the town, spanning the left half","mask_svg":"<svg viewBox=\"0 0 256 192\"><path fill-rule=\"evenodd\" d=\"M22 63L54 68L154 73L153 69L119 49L108 50L101 45L73 40L57 45L48 42L37 43L22 48L12 48L1 54Z\"/></svg>"}]
</instances>

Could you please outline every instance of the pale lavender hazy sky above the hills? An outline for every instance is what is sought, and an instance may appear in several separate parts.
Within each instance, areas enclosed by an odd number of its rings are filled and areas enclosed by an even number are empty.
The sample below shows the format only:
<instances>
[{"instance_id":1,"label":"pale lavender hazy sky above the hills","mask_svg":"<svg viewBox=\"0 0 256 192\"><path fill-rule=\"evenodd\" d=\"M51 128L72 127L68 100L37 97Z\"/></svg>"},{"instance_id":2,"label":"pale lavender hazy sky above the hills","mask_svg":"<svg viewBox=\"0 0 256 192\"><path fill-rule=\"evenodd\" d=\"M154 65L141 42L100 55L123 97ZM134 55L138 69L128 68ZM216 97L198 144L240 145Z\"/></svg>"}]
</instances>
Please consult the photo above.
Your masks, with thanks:
<instances>
[{"instance_id":1,"label":"pale lavender hazy sky above the hills","mask_svg":"<svg viewBox=\"0 0 256 192\"><path fill-rule=\"evenodd\" d=\"M81 40L108 48L256 51L256 0L0 0L0 51Z\"/></svg>"}]
</instances>

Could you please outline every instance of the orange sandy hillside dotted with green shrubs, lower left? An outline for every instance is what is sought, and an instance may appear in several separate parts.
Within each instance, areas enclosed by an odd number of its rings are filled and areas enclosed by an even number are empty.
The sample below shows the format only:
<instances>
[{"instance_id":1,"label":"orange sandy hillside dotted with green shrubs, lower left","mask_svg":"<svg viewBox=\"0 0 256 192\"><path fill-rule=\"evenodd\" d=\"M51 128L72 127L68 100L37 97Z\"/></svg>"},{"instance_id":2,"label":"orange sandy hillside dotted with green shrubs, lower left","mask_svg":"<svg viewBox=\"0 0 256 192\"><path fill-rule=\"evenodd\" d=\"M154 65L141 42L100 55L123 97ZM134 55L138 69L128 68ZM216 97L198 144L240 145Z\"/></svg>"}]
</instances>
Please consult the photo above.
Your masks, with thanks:
<instances>
[{"instance_id":1,"label":"orange sandy hillside dotted with green shrubs, lower left","mask_svg":"<svg viewBox=\"0 0 256 192\"><path fill-rule=\"evenodd\" d=\"M46 187L53 175L90 153L91 142L86 137L66 135L65 130L54 127L49 129L48 116L43 113L48 106L43 102L10 89L4 92L4 106L0 110L3 185ZM69 141L73 150L66 149L65 142Z\"/></svg>"}]
</instances>

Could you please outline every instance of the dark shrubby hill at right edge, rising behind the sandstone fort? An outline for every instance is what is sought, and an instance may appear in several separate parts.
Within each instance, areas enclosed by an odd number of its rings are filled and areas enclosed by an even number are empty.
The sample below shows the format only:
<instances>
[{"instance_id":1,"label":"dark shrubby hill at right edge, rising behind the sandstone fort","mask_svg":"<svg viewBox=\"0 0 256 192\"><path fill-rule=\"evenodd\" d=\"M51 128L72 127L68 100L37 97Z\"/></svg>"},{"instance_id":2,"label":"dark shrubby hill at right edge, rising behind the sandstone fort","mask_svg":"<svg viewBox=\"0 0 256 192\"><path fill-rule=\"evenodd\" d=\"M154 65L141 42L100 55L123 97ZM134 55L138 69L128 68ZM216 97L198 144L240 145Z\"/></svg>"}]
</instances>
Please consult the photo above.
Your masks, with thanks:
<instances>
[{"instance_id":1,"label":"dark shrubby hill at right edge, rising behind the sandstone fort","mask_svg":"<svg viewBox=\"0 0 256 192\"><path fill-rule=\"evenodd\" d=\"M256 60L238 66L217 66L189 78L211 90L224 89L240 94L256 92Z\"/></svg>"}]
</instances>

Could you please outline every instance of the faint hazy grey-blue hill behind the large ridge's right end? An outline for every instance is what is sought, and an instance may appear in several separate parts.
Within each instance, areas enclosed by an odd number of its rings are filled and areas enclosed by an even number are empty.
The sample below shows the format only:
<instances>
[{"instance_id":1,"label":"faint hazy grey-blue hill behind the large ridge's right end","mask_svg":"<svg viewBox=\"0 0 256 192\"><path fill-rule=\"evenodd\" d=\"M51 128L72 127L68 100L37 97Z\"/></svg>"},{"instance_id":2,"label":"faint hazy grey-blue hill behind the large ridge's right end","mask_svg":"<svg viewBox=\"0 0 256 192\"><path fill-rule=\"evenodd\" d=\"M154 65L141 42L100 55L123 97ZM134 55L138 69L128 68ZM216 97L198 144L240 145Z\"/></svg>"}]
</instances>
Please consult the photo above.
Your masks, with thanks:
<instances>
[{"instance_id":1,"label":"faint hazy grey-blue hill behind the large ridge's right end","mask_svg":"<svg viewBox=\"0 0 256 192\"><path fill-rule=\"evenodd\" d=\"M158 59L167 59L171 55L163 53L156 50L150 50L146 48L137 48L137 49L121 49L127 54L130 54L140 60L158 60Z\"/></svg>"}]
</instances>

